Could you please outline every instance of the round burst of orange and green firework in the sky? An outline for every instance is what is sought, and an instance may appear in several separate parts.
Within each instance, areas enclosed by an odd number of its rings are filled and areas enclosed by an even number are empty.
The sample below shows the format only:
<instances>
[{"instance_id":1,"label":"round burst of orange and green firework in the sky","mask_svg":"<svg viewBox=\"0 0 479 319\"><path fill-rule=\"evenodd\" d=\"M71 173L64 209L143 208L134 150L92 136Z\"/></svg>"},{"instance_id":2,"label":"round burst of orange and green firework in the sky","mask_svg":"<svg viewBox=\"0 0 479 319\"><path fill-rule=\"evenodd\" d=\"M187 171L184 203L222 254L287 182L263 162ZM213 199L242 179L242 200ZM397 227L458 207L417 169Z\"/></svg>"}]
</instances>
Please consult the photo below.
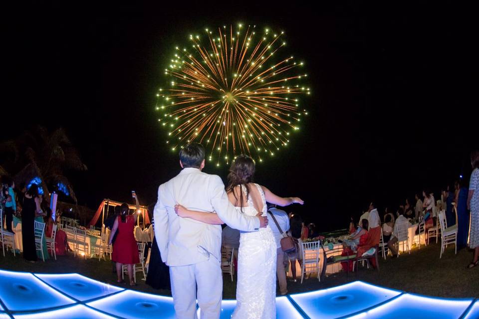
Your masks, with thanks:
<instances>
[{"instance_id":1,"label":"round burst of orange and green firework in the sky","mask_svg":"<svg viewBox=\"0 0 479 319\"><path fill-rule=\"evenodd\" d=\"M262 161L289 145L306 110L299 109L300 85L307 74L292 56L274 60L286 45L283 32L239 24L218 29L217 35L190 35L193 50L176 47L165 74L171 88L160 89L156 110L168 129L173 151L191 142L206 144L208 160L247 154ZM202 42L203 40L204 42Z\"/></svg>"}]
</instances>

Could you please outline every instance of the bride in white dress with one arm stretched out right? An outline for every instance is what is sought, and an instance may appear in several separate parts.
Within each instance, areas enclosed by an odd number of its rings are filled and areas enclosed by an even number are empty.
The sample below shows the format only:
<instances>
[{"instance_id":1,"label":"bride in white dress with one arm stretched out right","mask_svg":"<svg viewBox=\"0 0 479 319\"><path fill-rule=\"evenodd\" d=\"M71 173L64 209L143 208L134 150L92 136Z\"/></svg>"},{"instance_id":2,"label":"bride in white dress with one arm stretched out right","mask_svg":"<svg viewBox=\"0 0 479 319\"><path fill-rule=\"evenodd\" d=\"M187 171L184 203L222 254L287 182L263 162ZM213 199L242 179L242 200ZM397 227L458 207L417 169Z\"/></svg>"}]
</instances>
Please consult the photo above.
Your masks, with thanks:
<instances>
[{"instance_id":1,"label":"bride in white dress with one arm stretched out right","mask_svg":"<svg viewBox=\"0 0 479 319\"><path fill-rule=\"evenodd\" d=\"M266 202L279 206L303 204L298 197L279 197L253 183L253 174L254 161L244 155L236 158L228 174L228 198L241 213L266 216ZM175 210L180 217L223 224L216 214L188 210L181 205L176 205ZM276 242L269 226L240 234L236 299L232 318L276 318Z\"/></svg>"}]
</instances>

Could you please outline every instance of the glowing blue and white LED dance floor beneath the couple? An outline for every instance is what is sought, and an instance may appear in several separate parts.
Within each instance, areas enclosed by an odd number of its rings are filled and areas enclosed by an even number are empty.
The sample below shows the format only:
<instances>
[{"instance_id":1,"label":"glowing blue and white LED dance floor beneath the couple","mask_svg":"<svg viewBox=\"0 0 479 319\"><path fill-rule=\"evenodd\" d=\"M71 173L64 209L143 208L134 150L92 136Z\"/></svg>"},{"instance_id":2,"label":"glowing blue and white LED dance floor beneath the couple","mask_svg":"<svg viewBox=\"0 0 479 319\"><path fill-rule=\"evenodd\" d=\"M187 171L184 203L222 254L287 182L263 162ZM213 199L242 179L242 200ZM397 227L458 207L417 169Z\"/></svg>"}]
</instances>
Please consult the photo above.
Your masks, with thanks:
<instances>
[{"instance_id":1,"label":"glowing blue and white LED dance floor beneath the couple","mask_svg":"<svg viewBox=\"0 0 479 319\"><path fill-rule=\"evenodd\" d=\"M231 318L235 300L222 302ZM418 296L361 281L276 298L277 318L479 318L479 300ZM200 310L198 310L200 311ZM174 318L171 297L140 293L78 274L0 270L0 319Z\"/></svg>"}]
</instances>

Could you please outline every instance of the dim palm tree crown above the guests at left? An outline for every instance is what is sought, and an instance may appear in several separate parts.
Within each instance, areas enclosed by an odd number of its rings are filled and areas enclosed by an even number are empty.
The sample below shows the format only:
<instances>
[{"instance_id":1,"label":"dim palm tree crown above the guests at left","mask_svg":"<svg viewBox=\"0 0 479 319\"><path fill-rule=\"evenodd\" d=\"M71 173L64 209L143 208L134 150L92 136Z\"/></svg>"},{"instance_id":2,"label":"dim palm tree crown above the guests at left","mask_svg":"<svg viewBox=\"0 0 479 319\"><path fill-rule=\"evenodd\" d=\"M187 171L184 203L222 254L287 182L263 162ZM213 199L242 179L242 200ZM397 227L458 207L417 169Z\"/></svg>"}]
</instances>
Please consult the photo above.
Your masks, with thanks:
<instances>
[{"instance_id":1,"label":"dim palm tree crown above the guests at left","mask_svg":"<svg viewBox=\"0 0 479 319\"><path fill-rule=\"evenodd\" d=\"M49 187L58 188L63 184L69 196L77 202L71 183L64 175L68 169L87 170L78 151L72 146L65 130L56 129L49 133L46 128L37 126L24 132L19 138L3 142L0 150L10 154L10 171L18 171L15 180L24 182L39 177L46 199L49 200ZM11 156L13 155L13 156ZM16 169L15 169L16 168Z\"/></svg>"}]
</instances>

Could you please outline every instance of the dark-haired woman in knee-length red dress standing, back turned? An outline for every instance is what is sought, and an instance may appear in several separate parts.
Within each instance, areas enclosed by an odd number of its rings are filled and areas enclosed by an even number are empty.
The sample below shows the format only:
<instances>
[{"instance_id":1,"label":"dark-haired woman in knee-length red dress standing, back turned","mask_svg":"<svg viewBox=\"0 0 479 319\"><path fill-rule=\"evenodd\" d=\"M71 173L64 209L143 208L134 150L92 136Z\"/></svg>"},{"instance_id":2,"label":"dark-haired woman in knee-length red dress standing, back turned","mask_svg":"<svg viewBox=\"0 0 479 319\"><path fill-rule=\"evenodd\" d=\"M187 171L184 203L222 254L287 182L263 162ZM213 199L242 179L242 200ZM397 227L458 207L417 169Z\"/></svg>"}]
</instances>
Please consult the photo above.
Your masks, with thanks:
<instances>
[{"instance_id":1,"label":"dark-haired woman in knee-length red dress standing, back turned","mask_svg":"<svg viewBox=\"0 0 479 319\"><path fill-rule=\"evenodd\" d=\"M128 215L129 208L127 203L123 203L120 208L120 216L115 220L110 234L110 245L113 236L118 230L115 245L113 245L113 254L111 259L116 262L116 275L118 283L123 282L121 278L122 265L127 265L130 286L135 286L133 281L133 265L140 262L138 256L138 246L136 244L133 229L136 223L136 214Z\"/></svg>"}]
</instances>

